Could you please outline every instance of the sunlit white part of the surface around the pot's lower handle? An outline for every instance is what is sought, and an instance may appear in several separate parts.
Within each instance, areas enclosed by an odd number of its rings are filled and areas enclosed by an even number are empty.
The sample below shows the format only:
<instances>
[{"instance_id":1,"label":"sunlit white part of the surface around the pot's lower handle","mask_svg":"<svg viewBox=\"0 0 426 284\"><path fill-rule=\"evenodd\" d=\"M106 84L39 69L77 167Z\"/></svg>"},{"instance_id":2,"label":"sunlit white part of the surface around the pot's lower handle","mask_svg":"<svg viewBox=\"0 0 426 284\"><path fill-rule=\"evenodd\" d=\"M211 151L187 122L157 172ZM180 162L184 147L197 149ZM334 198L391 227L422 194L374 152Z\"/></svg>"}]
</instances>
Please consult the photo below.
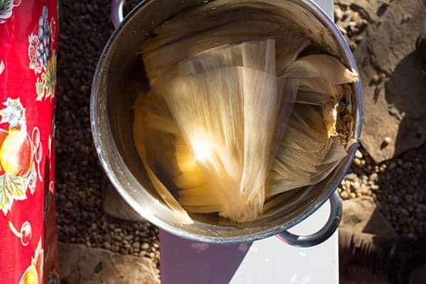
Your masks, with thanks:
<instances>
[{"instance_id":1,"label":"sunlit white part of the surface around the pot's lower handle","mask_svg":"<svg viewBox=\"0 0 426 284\"><path fill-rule=\"evenodd\" d=\"M310 234L322 226L329 214L324 204L304 222L290 229L293 234ZM250 283L339 283L337 232L310 248L283 244L276 237L255 241L236 270L231 284Z\"/></svg>"}]
</instances>

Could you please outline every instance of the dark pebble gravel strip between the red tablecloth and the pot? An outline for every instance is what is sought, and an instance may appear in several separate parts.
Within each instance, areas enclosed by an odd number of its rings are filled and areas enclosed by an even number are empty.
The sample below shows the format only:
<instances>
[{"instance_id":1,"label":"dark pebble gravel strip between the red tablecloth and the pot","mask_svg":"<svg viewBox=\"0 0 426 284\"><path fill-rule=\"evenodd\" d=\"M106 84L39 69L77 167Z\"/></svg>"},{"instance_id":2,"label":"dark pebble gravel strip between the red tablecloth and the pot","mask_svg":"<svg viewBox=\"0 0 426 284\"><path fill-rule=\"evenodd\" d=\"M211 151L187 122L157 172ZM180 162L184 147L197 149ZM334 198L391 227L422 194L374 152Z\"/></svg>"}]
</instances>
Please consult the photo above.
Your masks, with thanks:
<instances>
[{"instance_id":1,"label":"dark pebble gravel strip between the red tablecloth and the pot","mask_svg":"<svg viewBox=\"0 0 426 284\"><path fill-rule=\"evenodd\" d=\"M109 2L60 1L56 188L58 239L158 263L158 229L123 222L102 211L104 174L92 146L89 97L94 68L114 30Z\"/></svg>"}]
</instances>

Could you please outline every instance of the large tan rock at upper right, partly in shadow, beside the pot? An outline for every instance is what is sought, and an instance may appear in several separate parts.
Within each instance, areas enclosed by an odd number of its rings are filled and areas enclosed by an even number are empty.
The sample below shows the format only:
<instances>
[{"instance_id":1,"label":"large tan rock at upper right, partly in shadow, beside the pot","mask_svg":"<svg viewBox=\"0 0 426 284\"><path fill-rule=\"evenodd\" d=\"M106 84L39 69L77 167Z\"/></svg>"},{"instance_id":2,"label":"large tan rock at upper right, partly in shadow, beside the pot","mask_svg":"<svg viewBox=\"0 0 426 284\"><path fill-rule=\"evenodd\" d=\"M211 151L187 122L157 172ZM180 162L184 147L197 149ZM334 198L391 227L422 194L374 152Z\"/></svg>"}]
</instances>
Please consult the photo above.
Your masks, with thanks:
<instances>
[{"instance_id":1,"label":"large tan rock at upper right, partly in shadow, beside the pot","mask_svg":"<svg viewBox=\"0 0 426 284\"><path fill-rule=\"evenodd\" d=\"M417 37L426 31L426 1L338 2L370 21L354 51L364 92L361 143L382 162L426 141L426 79L414 55ZM372 84L381 72L388 76L386 83Z\"/></svg>"}]
</instances>

